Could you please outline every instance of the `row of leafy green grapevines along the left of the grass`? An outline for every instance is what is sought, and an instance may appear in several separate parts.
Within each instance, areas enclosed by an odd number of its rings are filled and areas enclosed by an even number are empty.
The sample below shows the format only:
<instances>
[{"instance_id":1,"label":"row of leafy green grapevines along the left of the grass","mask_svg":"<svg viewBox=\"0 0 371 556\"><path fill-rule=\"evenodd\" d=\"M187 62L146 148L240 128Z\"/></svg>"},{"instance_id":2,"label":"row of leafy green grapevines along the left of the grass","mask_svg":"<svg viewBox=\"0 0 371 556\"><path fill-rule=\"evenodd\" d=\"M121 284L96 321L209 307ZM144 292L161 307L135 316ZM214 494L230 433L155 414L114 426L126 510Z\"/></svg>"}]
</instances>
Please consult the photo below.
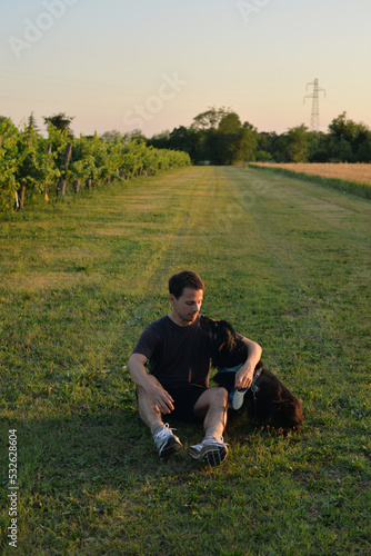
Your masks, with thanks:
<instances>
[{"instance_id":1,"label":"row of leafy green grapevines along the left of the grass","mask_svg":"<svg viewBox=\"0 0 371 556\"><path fill-rule=\"evenodd\" d=\"M74 138L66 115L44 118L48 137L42 137L33 116L22 129L0 117L0 209L22 209L24 200L40 193L48 201L78 193L82 188L152 175L190 165L186 152L147 145L140 137L116 140L80 136Z\"/></svg>"}]
</instances>

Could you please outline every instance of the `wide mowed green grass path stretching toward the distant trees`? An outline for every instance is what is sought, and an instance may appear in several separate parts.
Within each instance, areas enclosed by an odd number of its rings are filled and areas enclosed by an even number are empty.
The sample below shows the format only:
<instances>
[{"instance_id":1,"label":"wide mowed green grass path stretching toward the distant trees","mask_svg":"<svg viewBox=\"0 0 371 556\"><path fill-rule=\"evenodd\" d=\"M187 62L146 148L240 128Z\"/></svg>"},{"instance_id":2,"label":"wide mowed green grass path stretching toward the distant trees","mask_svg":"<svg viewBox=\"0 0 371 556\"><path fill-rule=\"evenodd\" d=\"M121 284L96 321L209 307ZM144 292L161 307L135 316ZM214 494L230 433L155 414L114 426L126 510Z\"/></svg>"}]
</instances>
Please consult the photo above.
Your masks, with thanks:
<instances>
[{"instance_id":1,"label":"wide mowed green grass path stretching toward the distant trees","mask_svg":"<svg viewBox=\"0 0 371 556\"><path fill-rule=\"evenodd\" d=\"M1 506L37 555L365 555L370 202L247 168L187 168L1 222ZM288 437L229 427L227 460L160 463L127 360L170 275L263 347L303 400ZM183 444L202 430L171 421Z\"/></svg>"}]
</instances>

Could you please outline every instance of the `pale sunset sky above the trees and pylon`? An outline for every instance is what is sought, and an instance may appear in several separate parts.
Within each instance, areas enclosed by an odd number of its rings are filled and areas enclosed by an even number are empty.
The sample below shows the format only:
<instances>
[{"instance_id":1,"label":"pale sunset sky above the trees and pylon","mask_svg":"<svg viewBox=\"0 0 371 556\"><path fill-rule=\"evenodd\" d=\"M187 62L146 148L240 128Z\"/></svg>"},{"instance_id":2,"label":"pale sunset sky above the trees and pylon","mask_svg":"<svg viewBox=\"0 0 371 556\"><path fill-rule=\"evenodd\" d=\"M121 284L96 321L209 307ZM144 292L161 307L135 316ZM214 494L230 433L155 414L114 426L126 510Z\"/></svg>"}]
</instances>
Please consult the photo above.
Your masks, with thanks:
<instances>
[{"instance_id":1,"label":"pale sunset sky above the trees and pylon","mask_svg":"<svg viewBox=\"0 0 371 556\"><path fill-rule=\"evenodd\" d=\"M259 131L371 128L370 0L1 0L0 115L147 137L215 106Z\"/></svg>"}]
</instances>

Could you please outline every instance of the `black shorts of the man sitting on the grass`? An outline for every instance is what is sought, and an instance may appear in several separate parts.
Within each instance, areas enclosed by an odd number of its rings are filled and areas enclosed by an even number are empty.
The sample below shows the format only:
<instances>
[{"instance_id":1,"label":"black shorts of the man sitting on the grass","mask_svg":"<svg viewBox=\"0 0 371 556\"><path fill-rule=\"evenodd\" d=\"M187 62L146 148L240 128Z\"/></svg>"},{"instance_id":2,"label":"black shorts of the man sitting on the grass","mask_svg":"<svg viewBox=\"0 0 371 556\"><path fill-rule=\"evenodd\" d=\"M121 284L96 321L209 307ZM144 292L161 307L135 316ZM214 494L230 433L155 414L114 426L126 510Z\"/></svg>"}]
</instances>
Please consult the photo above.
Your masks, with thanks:
<instances>
[{"instance_id":1,"label":"black shorts of the man sitting on the grass","mask_svg":"<svg viewBox=\"0 0 371 556\"><path fill-rule=\"evenodd\" d=\"M189 384L184 386L163 386L174 400L174 410L163 417L173 417L183 423L202 423L203 417L197 417L193 408L199 397L208 390L205 386Z\"/></svg>"}]
</instances>

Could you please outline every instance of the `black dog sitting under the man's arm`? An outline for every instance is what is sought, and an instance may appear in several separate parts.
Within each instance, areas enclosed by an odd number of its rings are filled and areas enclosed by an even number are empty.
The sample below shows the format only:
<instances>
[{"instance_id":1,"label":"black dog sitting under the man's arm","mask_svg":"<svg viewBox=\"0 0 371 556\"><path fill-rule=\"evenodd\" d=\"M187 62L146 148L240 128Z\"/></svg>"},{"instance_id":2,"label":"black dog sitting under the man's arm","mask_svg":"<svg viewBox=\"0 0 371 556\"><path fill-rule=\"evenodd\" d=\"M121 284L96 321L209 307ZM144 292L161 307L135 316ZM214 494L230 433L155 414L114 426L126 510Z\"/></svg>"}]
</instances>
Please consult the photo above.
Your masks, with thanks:
<instances>
[{"instance_id":1,"label":"black dog sitting under the man's arm","mask_svg":"<svg viewBox=\"0 0 371 556\"><path fill-rule=\"evenodd\" d=\"M212 341L211 363L219 370L213 380L231 393L238 370L234 367L242 366L247 360L248 348L227 320L201 316L200 328ZM265 369L262 361L255 367L253 386L245 393L242 407L257 425L283 431L301 430L301 399L295 398L281 380Z\"/></svg>"}]
</instances>

